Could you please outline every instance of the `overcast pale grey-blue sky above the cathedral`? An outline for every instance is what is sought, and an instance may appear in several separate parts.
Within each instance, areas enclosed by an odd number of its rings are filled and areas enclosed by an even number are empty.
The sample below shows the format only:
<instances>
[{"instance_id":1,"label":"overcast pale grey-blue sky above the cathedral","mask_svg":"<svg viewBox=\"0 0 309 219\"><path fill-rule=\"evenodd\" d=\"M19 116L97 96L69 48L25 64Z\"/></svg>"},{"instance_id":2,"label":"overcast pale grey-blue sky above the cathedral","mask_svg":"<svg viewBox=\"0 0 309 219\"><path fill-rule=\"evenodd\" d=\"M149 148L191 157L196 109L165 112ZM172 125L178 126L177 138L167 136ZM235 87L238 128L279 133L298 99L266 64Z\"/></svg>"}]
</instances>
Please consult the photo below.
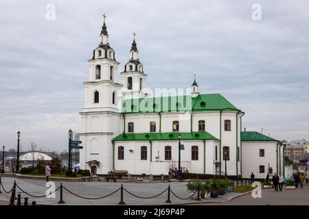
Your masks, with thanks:
<instances>
[{"instance_id":1,"label":"overcast pale grey-blue sky above the cathedral","mask_svg":"<svg viewBox=\"0 0 309 219\"><path fill-rule=\"evenodd\" d=\"M46 19L48 3L55 20ZM68 129L80 131L103 13L119 72L135 31L149 88L188 88L196 73L201 93L220 93L246 113L247 131L309 140L308 8L308 0L1 0L0 144L14 148L20 130L23 150L30 142L67 149Z\"/></svg>"}]
</instances>

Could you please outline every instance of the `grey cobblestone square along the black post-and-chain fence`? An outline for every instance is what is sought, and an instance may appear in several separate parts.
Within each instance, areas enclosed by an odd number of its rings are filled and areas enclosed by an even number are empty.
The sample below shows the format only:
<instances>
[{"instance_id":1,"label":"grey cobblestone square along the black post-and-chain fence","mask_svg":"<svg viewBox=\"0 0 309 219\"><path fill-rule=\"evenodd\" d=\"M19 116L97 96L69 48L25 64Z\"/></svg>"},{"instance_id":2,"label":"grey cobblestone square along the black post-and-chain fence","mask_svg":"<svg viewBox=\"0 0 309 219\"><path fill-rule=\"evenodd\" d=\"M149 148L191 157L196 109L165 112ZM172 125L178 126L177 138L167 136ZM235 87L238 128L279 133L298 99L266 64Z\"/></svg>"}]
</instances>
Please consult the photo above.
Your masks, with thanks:
<instances>
[{"instance_id":1,"label":"grey cobblestone square along the black post-and-chain fence","mask_svg":"<svg viewBox=\"0 0 309 219\"><path fill-rule=\"evenodd\" d=\"M10 190L13 186L14 180L16 180L17 185L19 185L25 192L28 192L35 196L44 195L47 188L45 188L45 181L43 180L35 180L35 179L16 179L11 177L2 177L2 183L4 185L5 190ZM55 182L56 188L60 185L60 182ZM107 194L111 194L121 186L121 182L108 182L105 181L93 181L93 182L64 182L62 185L70 190L73 193L76 193L80 196L87 196L87 197L100 197ZM187 192L187 186L185 182L171 182L171 183L143 183L143 182L135 182L135 183L123 183L124 188L126 188L129 192L136 194L138 196L149 197L155 196L160 192L163 192L168 185L170 185L171 190L181 198L185 198L190 196L190 193ZM58 201L60 199L60 191L56 192L56 198L32 198L31 196L24 194L19 190L16 189L16 196L17 194L21 194L22 202L24 197L29 198L29 202L36 201L36 203L43 204L43 205L58 205ZM218 196L218 198L208 198L203 199L205 202L223 202L231 200L236 196L239 196L239 193L230 192L225 194L224 196ZM168 192L165 192L161 196L156 198L136 198L128 194L124 191L124 202L127 205L165 205L165 201L168 198ZM89 200L78 198L69 194L67 191L63 191L63 200L65 201L65 205L118 205L120 201L120 191L116 192L115 194L108 196L107 198L102 198L99 200ZM188 200L181 200L176 198L174 195L170 194L170 200L172 204L184 204L184 203L194 203L196 200L188 199ZM10 201L10 194L5 194L2 190L2 194L0 194L0 201Z\"/></svg>"}]
</instances>

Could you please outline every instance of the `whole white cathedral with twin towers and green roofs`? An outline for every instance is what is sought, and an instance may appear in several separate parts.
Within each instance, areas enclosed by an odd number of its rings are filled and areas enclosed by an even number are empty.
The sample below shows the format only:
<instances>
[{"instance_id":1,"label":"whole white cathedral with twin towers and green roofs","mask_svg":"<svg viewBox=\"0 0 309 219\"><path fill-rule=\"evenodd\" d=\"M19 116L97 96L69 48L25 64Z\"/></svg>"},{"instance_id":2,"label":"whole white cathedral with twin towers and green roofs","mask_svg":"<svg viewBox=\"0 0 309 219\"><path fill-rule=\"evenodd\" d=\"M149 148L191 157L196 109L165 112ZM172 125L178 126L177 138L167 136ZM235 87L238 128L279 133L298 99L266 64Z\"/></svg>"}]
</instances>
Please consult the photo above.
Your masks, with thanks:
<instances>
[{"instance_id":1,"label":"whole white cathedral with twin towers and green roofs","mask_svg":"<svg viewBox=\"0 0 309 219\"><path fill-rule=\"evenodd\" d=\"M179 141L184 145L181 169L189 172L224 175L226 170L227 175L248 177L254 172L256 177L266 177L267 172L283 168L283 162L278 167L278 159L283 158L283 151L278 153L280 142L258 132L242 132L244 112L220 94L200 94L195 78L189 95L144 93L147 74L135 37L119 83L119 62L108 43L105 18L100 44L88 62L89 81L83 83L80 112L82 131L78 133L84 145L81 169L94 175L111 170L166 175L178 167Z\"/></svg>"}]
</instances>

